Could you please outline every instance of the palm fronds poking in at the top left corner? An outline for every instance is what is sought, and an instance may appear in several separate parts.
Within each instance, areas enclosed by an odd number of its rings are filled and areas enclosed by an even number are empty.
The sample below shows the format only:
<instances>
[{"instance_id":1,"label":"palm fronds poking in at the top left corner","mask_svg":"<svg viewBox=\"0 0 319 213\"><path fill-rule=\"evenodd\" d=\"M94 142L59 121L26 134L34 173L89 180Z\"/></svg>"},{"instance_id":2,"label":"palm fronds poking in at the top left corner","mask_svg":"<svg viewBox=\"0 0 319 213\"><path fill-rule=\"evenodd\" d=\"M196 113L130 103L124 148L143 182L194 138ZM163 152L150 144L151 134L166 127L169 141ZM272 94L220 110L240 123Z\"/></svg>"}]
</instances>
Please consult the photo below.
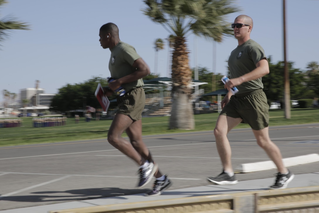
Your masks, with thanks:
<instances>
[{"instance_id":1,"label":"palm fronds poking in at the top left corner","mask_svg":"<svg viewBox=\"0 0 319 213\"><path fill-rule=\"evenodd\" d=\"M8 3L6 0L0 0L0 7ZM0 20L0 42L4 41L4 38L10 34L11 30L22 29L29 30L29 25L25 22L20 22L12 17L4 17Z\"/></svg>"}]
</instances>

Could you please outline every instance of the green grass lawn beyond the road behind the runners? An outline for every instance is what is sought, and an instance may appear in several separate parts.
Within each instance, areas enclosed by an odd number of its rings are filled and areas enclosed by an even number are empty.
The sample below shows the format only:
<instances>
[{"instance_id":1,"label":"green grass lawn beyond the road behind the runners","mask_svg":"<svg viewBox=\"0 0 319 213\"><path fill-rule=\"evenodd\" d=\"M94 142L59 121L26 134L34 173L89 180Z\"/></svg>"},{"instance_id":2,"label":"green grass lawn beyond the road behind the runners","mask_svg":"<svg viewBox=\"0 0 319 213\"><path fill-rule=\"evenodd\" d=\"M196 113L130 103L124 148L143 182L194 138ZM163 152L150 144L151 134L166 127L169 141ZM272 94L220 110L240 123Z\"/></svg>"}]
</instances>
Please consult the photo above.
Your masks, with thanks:
<instances>
[{"instance_id":1,"label":"green grass lawn beyond the road behind the runners","mask_svg":"<svg viewBox=\"0 0 319 213\"><path fill-rule=\"evenodd\" d=\"M195 115L194 130L169 130L169 116L143 118L143 135L158 135L191 131L212 131L215 127L218 113ZM76 123L74 117L69 117L64 126L33 127L32 117L23 117L21 127L0 128L0 146L26 145L36 143L53 143L89 139L106 139L111 120L94 119L86 122L80 118ZM270 111L270 126L282 126L305 123L319 123L319 108L292 109L291 119L286 119L284 110ZM239 124L236 128L249 128L247 124ZM126 134L123 134L126 137Z\"/></svg>"}]
</instances>

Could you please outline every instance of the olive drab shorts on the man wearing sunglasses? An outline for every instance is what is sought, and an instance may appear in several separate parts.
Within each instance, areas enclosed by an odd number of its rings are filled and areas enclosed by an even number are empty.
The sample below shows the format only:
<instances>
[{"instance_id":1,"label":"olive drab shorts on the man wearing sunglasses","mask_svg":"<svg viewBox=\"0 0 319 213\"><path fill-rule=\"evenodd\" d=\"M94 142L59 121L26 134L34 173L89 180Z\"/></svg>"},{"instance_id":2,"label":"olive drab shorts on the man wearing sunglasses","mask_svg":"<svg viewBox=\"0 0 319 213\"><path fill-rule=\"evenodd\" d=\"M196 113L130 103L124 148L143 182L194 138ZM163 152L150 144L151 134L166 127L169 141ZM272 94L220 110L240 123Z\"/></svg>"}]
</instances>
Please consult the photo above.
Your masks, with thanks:
<instances>
[{"instance_id":1,"label":"olive drab shorts on the man wearing sunglasses","mask_svg":"<svg viewBox=\"0 0 319 213\"><path fill-rule=\"evenodd\" d=\"M232 118L241 118L253 130L262 130L269 125L269 105L262 89L236 94L220 112Z\"/></svg>"}]
</instances>

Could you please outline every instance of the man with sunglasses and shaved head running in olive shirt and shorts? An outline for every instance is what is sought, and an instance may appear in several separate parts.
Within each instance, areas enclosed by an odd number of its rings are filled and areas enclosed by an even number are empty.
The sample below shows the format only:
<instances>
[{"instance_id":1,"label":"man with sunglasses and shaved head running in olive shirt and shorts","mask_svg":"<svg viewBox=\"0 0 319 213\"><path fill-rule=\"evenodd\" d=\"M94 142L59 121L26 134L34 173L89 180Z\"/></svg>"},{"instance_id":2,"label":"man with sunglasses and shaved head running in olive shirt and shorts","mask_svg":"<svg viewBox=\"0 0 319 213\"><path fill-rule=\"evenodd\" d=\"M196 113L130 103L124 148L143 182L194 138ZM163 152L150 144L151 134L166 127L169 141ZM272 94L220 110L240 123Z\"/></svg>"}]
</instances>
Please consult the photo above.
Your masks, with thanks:
<instances>
[{"instance_id":1,"label":"man with sunglasses and shaved head running in olive shirt and shorts","mask_svg":"<svg viewBox=\"0 0 319 213\"><path fill-rule=\"evenodd\" d=\"M223 171L217 177L207 177L215 185L233 185L238 182L231 162L231 147L227 133L239 123L248 123L257 144L264 149L278 169L275 183L269 189L283 189L294 175L284 166L277 145L269 137L269 106L263 92L262 77L269 73L269 65L263 48L250 39L253 20L247 15L236 17L232 24L238 46L228 59L230 80L225 84L229 91L221 101L222 111L216 122L214 135ZM232 87L239 90L235 95Z\"/></svg>"}]
</instances>

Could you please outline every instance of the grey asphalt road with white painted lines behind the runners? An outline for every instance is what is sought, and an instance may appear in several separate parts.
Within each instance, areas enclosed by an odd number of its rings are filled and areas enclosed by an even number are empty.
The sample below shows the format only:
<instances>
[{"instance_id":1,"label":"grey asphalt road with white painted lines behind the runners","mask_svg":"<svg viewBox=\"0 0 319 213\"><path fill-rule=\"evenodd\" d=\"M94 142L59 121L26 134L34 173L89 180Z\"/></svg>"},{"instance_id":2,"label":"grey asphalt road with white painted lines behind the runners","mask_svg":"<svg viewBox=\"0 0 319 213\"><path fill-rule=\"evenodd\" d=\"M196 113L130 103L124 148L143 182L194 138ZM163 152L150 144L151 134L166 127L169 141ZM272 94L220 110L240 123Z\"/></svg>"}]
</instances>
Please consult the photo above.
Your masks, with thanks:
<instances>
[{"instance_id":1,"label":"grey asphalt road with white painted lines behind the runners","mask_svg":"<svg viewBox=\"0 0 319 213\"><path fill-rule=\"evenodd\" d=\"M319 123L271 127L270 137L284 158L319 153ZM232 130L228 138L234 168L269 160L250 129ZM144 142L160 170L172 179L170 189L209 185L206 177L221 172L212 131L145 136ZM295 174L318 172L319 162L289 169ZM276 172L237 178L274 177ZM152 187L150 183L136 189L137 180L137 165L106 139L0 148L0 210L144 193Z\"/></svg>"}]
</instances>

